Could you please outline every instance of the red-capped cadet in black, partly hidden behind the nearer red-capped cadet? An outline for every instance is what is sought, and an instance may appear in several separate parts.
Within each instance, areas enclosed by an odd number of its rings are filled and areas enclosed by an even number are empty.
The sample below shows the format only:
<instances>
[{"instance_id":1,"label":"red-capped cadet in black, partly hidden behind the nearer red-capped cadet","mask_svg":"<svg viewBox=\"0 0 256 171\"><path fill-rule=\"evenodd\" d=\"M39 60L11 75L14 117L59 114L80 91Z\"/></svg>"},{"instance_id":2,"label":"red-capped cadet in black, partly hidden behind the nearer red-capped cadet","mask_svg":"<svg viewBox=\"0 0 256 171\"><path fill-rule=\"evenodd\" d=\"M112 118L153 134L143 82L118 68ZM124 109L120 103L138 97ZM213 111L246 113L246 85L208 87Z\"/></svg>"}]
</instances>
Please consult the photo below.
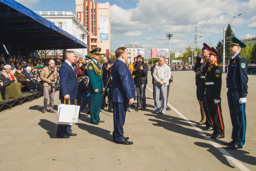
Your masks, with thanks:
<instances>
[{"instance_id":1,"label":"red-capped cadet in black, partly hidden behind the nearer red-capped cadet","mask_svg":"<svg viewBox=\"0 0 256 171\"><path fill-rule=\"evenodd\" d=\"M211 48L206 43L203 43L201 55L203 55L203 58L205 59L205 61L203 62L203 65L200 70L200 75L201 75L200 90L201 90L201 96L202 96L202 100L203 100L203 110L204 110L205 116L206 116L206 122L205 122L206 127L202 128L203 130L213 130L213 120L210 117L210 114L209 114L209 111L207 108L207 104L205 101L205 73L208 70L208 67L210 65L210 63L208 62L210 51L211 51Z\"/></svg>"}]
</instances>

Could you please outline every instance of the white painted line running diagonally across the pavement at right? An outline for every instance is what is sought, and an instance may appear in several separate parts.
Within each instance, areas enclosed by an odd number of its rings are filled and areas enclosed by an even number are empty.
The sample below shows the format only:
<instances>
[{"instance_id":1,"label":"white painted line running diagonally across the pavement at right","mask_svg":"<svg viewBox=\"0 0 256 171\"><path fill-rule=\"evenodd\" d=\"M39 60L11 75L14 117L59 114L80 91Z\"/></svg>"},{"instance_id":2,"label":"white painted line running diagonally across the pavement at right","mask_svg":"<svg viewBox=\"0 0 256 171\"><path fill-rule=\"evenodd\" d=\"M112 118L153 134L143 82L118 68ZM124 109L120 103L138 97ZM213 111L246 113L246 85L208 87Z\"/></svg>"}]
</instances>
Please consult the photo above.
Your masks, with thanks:
<instances>
[{"instance_id":1,"label":"white painted line running diagonally across the pavement at right","mask_svg":"<svg viewBox=\"0 0 256 171\"><path fill-rule=\"evenodd\" d=\"M150 87L147 86L148 89L150 89ZM150 89L151 92L153 92L152 89ZM167 105L173 110L175 111L181 118L183 118L189 125L191 125L194 130L196 130L200 135L202 135L208 142L210 142L211 145L213 145L215 148L217 148L222 154L223 156L225 156L229 161L231 161L234 165L236 165L241 171L251 171L250 169L248 169L246 166L244 166L244 164L242 164L240 161L238 161L237 159L235 159L231 154L229 154L229 152L227 152L222 146L220 146L217 142L215 142L213 139L211 139L210 137L206 136L206 133L203 132L200 128L198 128L195 124L193 124L190 120L188 120L188 118L186 118L186 116L184 116L182 113L180 113L176 108L174 108L173 106L171 106L171 104L167 103Z\"/></svg>"}]
</instances>

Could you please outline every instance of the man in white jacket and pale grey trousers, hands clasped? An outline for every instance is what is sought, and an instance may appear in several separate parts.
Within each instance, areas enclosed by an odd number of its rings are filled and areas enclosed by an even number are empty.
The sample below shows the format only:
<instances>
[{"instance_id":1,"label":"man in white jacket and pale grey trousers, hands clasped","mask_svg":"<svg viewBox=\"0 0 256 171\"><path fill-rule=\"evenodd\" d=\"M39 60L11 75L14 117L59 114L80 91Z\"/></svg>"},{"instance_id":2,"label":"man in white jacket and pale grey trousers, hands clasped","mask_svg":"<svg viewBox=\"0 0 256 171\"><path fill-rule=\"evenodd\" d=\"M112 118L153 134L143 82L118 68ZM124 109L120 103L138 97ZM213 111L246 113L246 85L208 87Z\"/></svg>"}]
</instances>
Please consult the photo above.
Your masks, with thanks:
<instances>
[{"instance_id":1,"label":"man in white jacket and pale grey trousers, hands clasped","mask_svg":"<svg viewBox=\"0 0 256 171\"><path fill-rule=\"evenodd\" d=\"M155 113L160 112L159 108L159 96L161 98L161 112L165 113L167 107L167 86L169 85L169 79L171 78L171 70L165 63L165 58L159 58L159 65L155 66L153 77L154 89L155 89ZM161 91L160 91L161 90Z\"/></svg>"}]
</instances>

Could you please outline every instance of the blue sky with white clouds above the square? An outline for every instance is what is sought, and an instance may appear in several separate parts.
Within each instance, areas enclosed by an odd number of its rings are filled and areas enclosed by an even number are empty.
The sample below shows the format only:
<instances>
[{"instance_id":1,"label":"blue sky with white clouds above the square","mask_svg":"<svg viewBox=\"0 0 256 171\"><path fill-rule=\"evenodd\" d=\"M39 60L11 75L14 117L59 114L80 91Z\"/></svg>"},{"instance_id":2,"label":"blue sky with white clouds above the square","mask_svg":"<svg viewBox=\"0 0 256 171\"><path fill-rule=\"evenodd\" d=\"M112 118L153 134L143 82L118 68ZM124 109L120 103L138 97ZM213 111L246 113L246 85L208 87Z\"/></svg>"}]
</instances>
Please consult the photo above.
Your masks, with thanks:
<instances>
[{"instance_id":1,"label":"blue sky with white clouds above the square","mask_svg":"<svg viewBox=\"0 0 256 171\"><path fill-rule=\"evenodd\" d=\"M71 11L75 0L17 0L34 11ZM165 34L173 34L171 51L192 46L197 26L198 47L216 46L223 39L223 26L231 24L238 39L256 36L256 0L95 0L111 5L111 48L134 43L151 48L169 48Z\"/></svg>"}]
</instances>

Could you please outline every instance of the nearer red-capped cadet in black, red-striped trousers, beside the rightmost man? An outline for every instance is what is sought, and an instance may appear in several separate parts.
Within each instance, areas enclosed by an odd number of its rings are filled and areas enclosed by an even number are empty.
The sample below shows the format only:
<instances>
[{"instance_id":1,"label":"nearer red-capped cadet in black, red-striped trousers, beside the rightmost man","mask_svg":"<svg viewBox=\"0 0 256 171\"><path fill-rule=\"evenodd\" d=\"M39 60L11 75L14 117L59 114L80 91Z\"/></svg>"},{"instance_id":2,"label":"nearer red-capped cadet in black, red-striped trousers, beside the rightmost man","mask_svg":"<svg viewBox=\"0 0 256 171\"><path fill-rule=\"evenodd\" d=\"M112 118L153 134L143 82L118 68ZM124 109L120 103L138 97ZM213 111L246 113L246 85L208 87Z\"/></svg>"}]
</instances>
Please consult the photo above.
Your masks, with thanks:
<instances>
[{"instance_id":1,"label":"nearer red-capped cadet in black, red-striped trousers, beside the rightmost man","mask_svg":"<svg viewBox=\"0 0 256 171\"><path fill-rule=\"evenodd\" d=\"M220 54L212 47L209 53L209 67L205 74L205 99L208 111L213 121L212 139L224 138L224 122L221 110L221 84L222 72L221 67L217 63Z\"/></svg>"}]
</instances>

